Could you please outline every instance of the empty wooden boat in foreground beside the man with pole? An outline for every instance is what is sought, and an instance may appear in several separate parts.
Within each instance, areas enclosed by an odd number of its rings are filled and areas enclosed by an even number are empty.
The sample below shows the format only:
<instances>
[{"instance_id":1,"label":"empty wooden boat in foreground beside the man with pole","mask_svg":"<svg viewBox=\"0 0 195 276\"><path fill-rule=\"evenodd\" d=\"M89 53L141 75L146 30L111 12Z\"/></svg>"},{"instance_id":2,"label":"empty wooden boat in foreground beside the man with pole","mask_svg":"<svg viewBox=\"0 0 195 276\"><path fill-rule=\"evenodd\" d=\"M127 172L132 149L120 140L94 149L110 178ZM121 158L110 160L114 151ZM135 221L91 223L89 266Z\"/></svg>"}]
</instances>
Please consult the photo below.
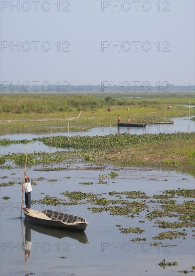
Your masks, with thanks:
<instances>
[{"instance_id":1,"label":"empty wooden boat in foreground beside the man with pole","mask_svg":"<svg viewBox=\"0 0 195 276\"><path fill-rule=\"evenodd\" d=\"M85 230L88 225L88 222L86 222L85 218L48 209L44 210L43 212L32 209L30 212L27 212L24 209L24 214L26 219L32 223L66 230L81 231Z\"/></svg>"}]
</instances>

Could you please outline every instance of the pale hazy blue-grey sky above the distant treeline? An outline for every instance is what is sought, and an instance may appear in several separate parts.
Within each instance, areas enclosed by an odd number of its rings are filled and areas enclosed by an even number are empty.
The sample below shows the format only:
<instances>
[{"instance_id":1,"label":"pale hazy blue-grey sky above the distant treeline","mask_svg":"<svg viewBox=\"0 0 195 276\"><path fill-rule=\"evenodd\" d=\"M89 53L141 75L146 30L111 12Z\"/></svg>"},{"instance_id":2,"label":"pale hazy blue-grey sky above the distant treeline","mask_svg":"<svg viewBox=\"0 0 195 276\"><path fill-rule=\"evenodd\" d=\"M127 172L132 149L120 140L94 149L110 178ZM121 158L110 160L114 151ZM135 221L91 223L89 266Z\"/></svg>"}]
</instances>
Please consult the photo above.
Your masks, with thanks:
<instances>
[{"instance_id":1,"label":"pale hazy blue-grey sky above the distant treeline","mask_svg":"<svg viewBox=\"0 0 195 276\"><path fill-rule=\"evenodd\" d=\"M194 1L1 0L1 81L193 85Z\"/></svg>"}]
</instances>

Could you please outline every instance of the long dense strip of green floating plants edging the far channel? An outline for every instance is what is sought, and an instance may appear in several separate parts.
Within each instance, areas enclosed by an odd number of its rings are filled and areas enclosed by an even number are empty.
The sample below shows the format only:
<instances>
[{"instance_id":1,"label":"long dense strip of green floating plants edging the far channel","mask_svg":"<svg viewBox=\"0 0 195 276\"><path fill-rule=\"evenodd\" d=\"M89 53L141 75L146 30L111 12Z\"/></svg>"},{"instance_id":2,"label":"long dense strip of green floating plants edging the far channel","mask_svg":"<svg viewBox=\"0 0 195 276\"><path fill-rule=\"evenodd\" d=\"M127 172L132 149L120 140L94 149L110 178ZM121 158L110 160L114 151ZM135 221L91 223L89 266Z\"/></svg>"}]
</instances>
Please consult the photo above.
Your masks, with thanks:
<instances>
[{"instance_id":1,"label":"long dense strip of green floating plants edging the far channel","mask_svg":"<svg viewBox=\"0 0 195 276\"><path fill-rule=\"evenodd\" d=\"M47 146L53 146L62 149L107 149L115 150L125 149L127 145L131 147L144 146L156 142L172 141L172 140L194 140L195 133L179 132L179 133L158 133L158 134L131 134L121 133L110 134L104 136L54 136L51 142L50 137L39 137L34 141L43 142Z\"/></svg>"}]
</instances>

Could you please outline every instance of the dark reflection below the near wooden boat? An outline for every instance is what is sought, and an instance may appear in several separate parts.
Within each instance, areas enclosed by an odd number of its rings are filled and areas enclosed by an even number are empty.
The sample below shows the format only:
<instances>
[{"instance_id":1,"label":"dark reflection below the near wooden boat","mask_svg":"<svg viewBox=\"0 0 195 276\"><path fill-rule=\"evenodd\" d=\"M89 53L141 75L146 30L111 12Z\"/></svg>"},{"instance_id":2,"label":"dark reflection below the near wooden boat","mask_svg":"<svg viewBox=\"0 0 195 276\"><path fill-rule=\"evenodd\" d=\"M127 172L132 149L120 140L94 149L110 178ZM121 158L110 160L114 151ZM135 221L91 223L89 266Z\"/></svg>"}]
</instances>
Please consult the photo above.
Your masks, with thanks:
<instances>
[{"instance_id":1,"label":"dark reflection below the near wooden boat","mask_svg":"<svg viewBox=\"0 0 195 276\"><path fill-rule=\"evenodd\" d=\"M56 238L72 238L76 239L81 243L89 243L87 236L84 231L70 231L70 230L62 230L62 229L57 229L57 228L49 228L49 227L43 227L39 226L36 224L33 224L26 219L24 220L24 225L25 225L25 240L26 240L26 233L29 231L34 230L38 233L45 234L48 236L56 237Z\"/></svg>"}]
</instances>

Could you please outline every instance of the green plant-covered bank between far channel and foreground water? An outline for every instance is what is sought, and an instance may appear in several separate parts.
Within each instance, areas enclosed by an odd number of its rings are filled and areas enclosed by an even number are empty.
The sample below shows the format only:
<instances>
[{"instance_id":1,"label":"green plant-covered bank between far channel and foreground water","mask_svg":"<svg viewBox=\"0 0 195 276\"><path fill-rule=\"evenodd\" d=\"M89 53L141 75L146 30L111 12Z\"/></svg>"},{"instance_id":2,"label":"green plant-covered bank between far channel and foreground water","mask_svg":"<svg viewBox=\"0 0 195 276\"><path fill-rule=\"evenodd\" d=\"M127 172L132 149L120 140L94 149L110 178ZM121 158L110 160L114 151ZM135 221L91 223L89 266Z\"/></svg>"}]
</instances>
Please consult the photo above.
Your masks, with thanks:
<instances>
[{"instance_id":1,"label":"green plant-covered bank between far channel and foreground water","mask_svg":"<svg viewBox=\"0 0 195 276\"><path fill-rule=\"evenodd\" d=\"M60 149L71 149L71 151L30 154L28 164L57 164L68 160L71 162L73 159L79 158L82 162L109 163L120 168L156 167L158 169L182 170L194 175L195 133L54 136L52 140L50 137L43 137L33 139L33 141L43 142L47 146ZM27 143L28 141L22 142ZM1 141L2 145L13 143L15 141ZM25 153L3 156L1 164L4 165L6 160L10 160L15 164L24 165L25 157Z\"/></svg>"}]
</instances>

